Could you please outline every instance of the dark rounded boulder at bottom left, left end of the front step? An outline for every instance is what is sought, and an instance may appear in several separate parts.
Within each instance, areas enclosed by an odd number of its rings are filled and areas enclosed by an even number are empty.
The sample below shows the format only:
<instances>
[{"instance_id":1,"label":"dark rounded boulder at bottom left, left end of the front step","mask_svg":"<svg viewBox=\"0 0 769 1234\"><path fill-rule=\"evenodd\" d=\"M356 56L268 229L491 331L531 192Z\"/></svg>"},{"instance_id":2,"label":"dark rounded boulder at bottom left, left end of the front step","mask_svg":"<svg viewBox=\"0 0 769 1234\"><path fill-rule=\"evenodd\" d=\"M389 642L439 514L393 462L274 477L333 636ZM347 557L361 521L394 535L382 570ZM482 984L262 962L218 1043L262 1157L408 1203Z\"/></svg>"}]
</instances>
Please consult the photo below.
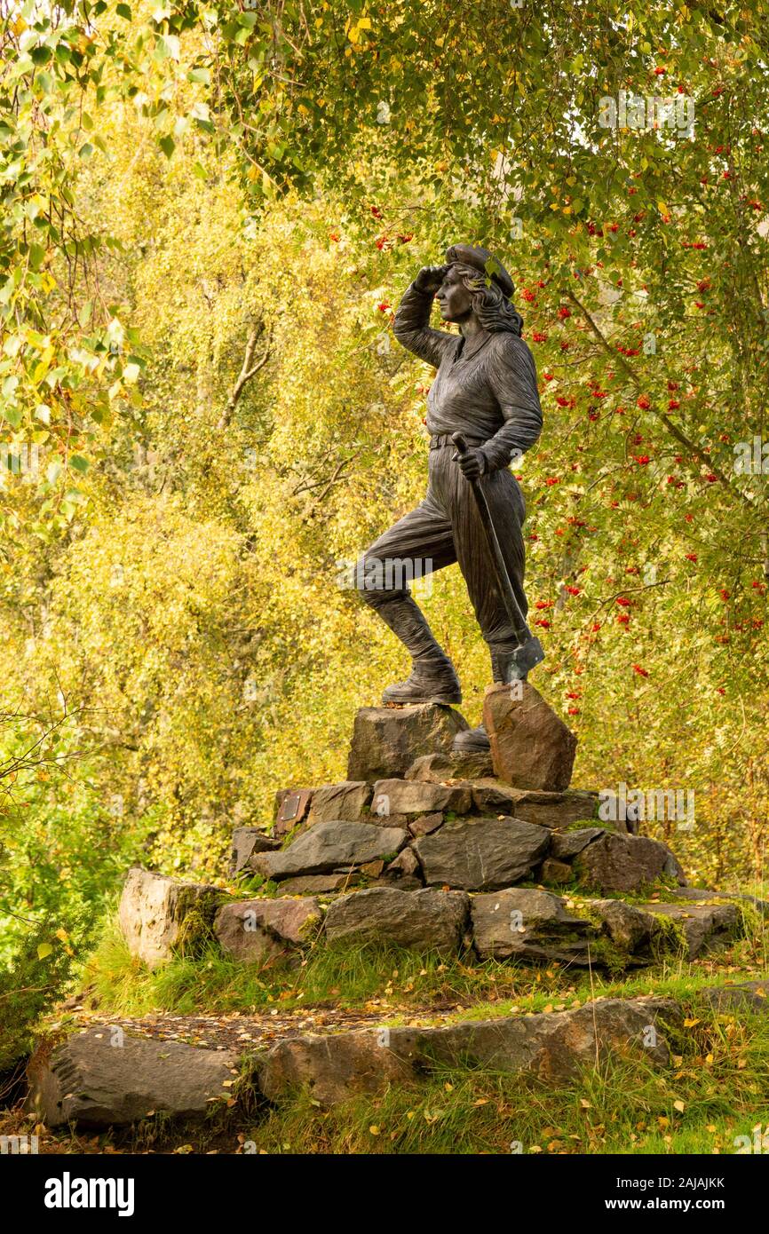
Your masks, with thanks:
<instances>
[{"instance_id":1,"label":"dark rounded boulder at bottom left, left end of the front step","mask_svg":"<svg viewBox=\"0 0 769 1234\"><path fill-rule=\"evenodd\" d=\"M32 1056L26 1106L47 1127L125 1125L152 1112L205 1117L212 1098L230 1097L237 1060L232 1050L128 1037L116 1025L95 1024Z\"/></svg>"}]
</instances>

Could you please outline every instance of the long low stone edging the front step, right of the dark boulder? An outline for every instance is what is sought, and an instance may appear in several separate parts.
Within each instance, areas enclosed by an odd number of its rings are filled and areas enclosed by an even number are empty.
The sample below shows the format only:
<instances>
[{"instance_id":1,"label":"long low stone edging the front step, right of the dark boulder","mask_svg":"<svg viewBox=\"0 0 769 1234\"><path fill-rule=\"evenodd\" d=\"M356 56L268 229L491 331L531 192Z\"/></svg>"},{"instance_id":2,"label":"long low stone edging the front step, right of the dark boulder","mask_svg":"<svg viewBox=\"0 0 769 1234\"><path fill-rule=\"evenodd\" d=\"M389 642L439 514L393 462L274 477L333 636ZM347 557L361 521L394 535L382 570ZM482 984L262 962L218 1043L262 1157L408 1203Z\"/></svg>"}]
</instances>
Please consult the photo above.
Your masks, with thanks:
<instances>
[{"instance_id":1,"label":"long low stone edging the front step, right of the dark boulder","mask_svg":"<svg viewBox=\"0 0 769 1234\"><path fill-rule=\"evenodd\" d=\"M269 1099L304 1088L321 1106L360 1092L416 1083L436 1069L458 1064L568 1083L583 1069L600 1067L612 1055L636 1055L667 1066L668 1018L680 1016L676 1006L664 1000L600 998L574 1011L464 1021L444 1028L295 1037L259 1060L259 1082ZM653 1034L651 1025L657 1029Z\"/></svg>"}]
</instances>

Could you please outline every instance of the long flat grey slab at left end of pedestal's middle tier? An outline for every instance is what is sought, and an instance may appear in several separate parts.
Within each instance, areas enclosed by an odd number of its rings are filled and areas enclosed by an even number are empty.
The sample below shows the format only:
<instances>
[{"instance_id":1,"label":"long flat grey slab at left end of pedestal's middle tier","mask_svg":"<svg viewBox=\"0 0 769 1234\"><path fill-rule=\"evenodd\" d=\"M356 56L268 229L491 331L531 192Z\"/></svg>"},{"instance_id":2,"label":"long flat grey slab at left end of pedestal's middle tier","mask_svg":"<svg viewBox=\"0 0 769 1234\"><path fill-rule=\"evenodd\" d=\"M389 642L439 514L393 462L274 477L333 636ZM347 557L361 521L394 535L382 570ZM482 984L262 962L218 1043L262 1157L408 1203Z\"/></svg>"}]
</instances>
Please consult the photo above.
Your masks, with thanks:
<instances>
[{"instance_id":1,"label":"long flat grey slab at left end of pedestal's middle tier","mask_svg":"<svg viewBox=\"0 0 769 1234\"><path fill-rule=\"evenodd\" d=\"M410 839L401 827L373 823L316 823L302 832L288 849L262 853L256 861L267 879L293 875L343 872L351 866L400 853Z\"/></svg>"}]
</instances>

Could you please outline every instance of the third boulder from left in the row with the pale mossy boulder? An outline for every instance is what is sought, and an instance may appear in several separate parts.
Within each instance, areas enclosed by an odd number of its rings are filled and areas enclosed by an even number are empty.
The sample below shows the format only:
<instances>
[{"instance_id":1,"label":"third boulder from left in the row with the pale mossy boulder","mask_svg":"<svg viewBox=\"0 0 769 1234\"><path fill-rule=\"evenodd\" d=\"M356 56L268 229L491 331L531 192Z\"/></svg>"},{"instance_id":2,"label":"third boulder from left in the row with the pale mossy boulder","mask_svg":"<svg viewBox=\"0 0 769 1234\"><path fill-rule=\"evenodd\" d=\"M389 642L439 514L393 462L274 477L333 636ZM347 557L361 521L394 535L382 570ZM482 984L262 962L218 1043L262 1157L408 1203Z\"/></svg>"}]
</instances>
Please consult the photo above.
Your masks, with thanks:
<instances>
[{"instance_id":1,"label":"third boulder from left in the row with the pale mossy boulder","mask_svg":"<svg viewBox=\"0 0 769 1234\"><path fill-rule=\"evenodd\" d=\"M335 900L326 913L326 937L332 943L344 939L455 951L468 907L463 891L372 887Z\"/></svg>"}]
</instances>

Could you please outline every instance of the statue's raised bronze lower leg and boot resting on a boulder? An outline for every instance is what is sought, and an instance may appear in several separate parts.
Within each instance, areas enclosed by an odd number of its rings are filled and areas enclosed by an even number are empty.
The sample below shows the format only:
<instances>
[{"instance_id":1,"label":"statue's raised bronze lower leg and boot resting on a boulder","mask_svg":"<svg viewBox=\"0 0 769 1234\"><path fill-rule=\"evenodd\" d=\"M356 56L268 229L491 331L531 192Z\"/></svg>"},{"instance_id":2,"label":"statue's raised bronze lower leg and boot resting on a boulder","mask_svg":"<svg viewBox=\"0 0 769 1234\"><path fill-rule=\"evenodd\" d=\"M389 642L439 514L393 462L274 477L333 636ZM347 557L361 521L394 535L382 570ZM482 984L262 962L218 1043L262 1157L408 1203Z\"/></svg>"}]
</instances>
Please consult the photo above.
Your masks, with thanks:
<instances>
[{"instance_id":1,"label":"statue's raised bronze lower leg and boot resting on a boulder","mask_svg":"<svg viewBox=\"0 0 769 1234\"><path fill-rule=\"evenodd\" d=\"M376 612L411 653L411 674L388 686L386 702L462 702L462 690L448 655L436 643L432 631L411 596L395 596L378 603Z\"/></svg>"}]
</instances>

